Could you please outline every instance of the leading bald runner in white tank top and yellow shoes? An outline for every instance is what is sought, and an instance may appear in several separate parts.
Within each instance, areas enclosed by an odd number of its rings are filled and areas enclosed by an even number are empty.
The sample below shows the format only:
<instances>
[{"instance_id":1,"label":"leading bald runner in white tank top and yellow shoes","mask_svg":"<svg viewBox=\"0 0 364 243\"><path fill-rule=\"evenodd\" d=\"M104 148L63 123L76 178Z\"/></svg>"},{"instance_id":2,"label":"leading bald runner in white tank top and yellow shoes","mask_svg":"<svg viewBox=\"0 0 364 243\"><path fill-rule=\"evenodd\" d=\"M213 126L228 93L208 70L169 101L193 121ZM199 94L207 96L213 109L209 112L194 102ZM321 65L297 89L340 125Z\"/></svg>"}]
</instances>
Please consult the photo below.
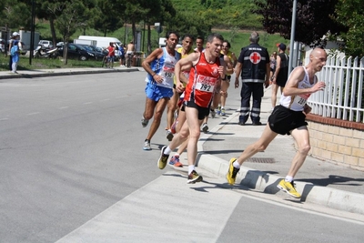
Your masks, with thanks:
<instances>
[{"instance_id":1,"label":"leading bald runner in white tank top and yellow shoes","mask_svg":"<svg viewBox=\"0 0 364 243\"><path fill-rule=\"evenodd\" d=\"M308 127L305 121L305 114L308 114L310 107L306 102L308 96L324 90L326 86L324 82L318 82L315 75L321 71L322 66L326 65L326 59L325 50L316 48L309 56L308 66L299 66L292 71L283 90L280 100L281 105L276 106L269 116L268 124L262 136L257 142L249 145L240 157L230 159L227 170L228 184L234 185L240 166L244 161L258 152L265 151L269 143L278 136L278 131L281 134L288 131L288 134L292 135L296 140L298 150L295 157L293 157L287 177L281 179L277 187L292 197L301 197L295 188L293 178L305 162L310 149Z\"/></svg>"}]
</instances>

